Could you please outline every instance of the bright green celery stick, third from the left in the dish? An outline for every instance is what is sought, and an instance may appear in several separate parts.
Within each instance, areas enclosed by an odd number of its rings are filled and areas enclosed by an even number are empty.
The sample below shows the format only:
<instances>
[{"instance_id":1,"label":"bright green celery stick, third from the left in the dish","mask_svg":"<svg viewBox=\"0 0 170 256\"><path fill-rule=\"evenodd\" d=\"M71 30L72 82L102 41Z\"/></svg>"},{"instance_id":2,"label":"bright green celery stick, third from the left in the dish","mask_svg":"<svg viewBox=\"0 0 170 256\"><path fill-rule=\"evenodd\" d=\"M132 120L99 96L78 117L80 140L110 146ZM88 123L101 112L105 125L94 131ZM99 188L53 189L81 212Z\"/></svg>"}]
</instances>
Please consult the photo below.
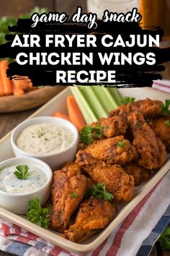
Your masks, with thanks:
<instances>
[{"instance_id":1,"label":"bright green celery stick, third from the left in the dish","mask_svg":"<svg viewBox=\"0 0 170 256\"><path fill-rule=\"evenodd\" d=\"M92 89L97 95L97 98L101 105L104 107L105 111L107 111L107 116L109 114L109 111L111 111L113 108L117 108L117 103L115 102L114 98L112 97L111 93L109 93L109 90L107 90L107 88L104 88L103 86L93 86Z\"/></svg>"}]
</instances>

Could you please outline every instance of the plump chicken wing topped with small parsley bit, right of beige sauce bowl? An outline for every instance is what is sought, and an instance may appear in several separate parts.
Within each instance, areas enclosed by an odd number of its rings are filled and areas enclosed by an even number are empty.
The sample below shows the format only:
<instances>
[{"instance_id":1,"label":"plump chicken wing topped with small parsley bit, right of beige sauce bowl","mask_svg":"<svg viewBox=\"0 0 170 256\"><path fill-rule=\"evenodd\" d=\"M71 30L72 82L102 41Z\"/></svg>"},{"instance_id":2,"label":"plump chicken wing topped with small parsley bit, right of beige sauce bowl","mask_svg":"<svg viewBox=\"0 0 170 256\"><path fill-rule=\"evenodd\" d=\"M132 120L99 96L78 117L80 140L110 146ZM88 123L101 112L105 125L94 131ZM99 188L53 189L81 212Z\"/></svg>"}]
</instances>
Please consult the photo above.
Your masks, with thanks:
<instances>
[{"instance_id":1,"label":"plump chicken wing topped with small parsley bit, right of beige sauce bowl","mask_svg":"<svg viewBox=\"0 0 170 256\"><path fill-rule=\"evenodd\" d=\"M137 157L135 148L123 136L95 140L84 150L94 156L94 158L110 164L117 163L121 166Z\"/></svg>"}]
</instances>

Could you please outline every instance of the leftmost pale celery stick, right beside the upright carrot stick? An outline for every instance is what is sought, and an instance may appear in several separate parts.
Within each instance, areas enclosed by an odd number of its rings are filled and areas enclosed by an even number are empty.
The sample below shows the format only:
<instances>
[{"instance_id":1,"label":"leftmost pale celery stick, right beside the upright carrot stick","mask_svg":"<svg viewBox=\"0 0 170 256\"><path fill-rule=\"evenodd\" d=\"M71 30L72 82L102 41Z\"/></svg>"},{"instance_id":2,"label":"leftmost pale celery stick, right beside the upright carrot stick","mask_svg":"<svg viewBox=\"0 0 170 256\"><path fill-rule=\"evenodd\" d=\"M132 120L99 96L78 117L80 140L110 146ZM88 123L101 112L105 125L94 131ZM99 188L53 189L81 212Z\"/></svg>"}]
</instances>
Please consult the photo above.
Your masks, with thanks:
<instances>
[{"instance_id":1,"label":"leftmost pale celery stick, right beside the upright carrot stick","mask_svg":"<svg viewBox=\"0 0 170 256\"><path fill-rule=\"evenodd\" d=\"M81 113L84 116L84 119L86 120L87 124L91 124L94 121L97 121L97 117L94 115L93 111L91 110L89 104L86 102L86 99L82 95L81 91L79 90L78 86L70 86L71 93L73 93L73 96L76 99L76 102L79 105L79 108L81 110Z\"/></svg>"}]
</instances>

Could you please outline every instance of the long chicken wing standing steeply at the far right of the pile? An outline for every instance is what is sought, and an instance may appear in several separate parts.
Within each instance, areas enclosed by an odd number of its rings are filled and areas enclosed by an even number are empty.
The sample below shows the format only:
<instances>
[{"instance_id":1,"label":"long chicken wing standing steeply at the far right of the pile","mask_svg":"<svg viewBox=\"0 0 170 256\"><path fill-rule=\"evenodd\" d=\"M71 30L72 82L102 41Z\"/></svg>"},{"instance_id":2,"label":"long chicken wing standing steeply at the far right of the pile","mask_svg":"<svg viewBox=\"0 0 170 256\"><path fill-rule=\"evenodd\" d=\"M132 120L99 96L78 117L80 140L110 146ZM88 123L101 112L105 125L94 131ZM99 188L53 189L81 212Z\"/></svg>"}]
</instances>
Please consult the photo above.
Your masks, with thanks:
<instances>
[{"instance_id":1,"label":"long chicken wing standing steeply at the far right of the pile","mask_svg":"<svg viewBox=\"0 0 170 256\"><path fill-rule=\"evenodd\" d=\"M143 114L133 112L128 116L128 124L133 132L133 145L139 155L138 164L150 170L163 166L166 161L165 146L148 126Z\"/></svg>"}]
</instances>

